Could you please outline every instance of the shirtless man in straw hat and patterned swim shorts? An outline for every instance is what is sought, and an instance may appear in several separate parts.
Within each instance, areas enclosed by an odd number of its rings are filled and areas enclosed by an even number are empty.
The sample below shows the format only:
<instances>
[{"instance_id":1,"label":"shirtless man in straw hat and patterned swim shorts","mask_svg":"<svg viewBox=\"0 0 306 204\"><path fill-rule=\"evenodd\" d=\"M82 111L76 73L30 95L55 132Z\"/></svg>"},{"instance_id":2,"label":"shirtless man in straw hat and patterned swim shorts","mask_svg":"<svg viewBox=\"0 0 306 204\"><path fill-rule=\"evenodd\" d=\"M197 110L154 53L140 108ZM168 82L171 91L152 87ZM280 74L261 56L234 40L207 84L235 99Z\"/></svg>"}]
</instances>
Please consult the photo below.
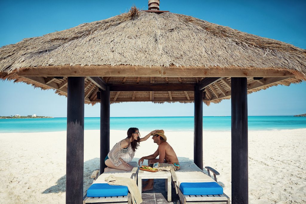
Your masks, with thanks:
<instances>
[{"instance_id":1,"label":"shirtless man in straw hat and patterned swim shorts","mask_svg":"<svg viewBox=\"0 0 306 204\"><path fill-rule=\"evenodd\" d=\"M173 148L170 146L169 143L167 143L167 137L164 134L163 130L157 130L153 137L152 137L154 143L156 143L158 145L157 150L154 152L154 154L151 154L149 156L146 157L142 157L140 158L140 160L138 161L138 165L140 165L144 162L144 159L148 159L148 165L150 164L154 164L154 163L168 163L168 164L173 164L175 167L175 170L179 170L180 169L180 164L178 163L178 159L177 156L173 150ZM159 158L156 159L156 157L159 155ZM153 184L154 184L154 180L153 179L149 179L147 182L145 182L144 184L148 184L146 187L143 188L143 191L148 191L153 189Z\"/></svg>"}]
</instances>

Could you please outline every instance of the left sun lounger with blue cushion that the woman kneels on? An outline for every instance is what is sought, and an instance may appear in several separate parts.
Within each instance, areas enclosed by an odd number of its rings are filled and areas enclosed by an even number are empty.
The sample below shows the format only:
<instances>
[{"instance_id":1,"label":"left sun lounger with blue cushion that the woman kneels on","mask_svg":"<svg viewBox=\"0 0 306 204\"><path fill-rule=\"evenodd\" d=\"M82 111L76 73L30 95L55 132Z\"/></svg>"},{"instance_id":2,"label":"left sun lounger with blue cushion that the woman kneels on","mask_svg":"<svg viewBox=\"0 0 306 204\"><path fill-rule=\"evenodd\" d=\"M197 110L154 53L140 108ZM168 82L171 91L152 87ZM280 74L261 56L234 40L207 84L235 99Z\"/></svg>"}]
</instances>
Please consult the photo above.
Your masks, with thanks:
<instances>
[{"instance_id":1,"label":"left sun lounger with blue cushion that the woman kneels on","mask_svg":"<svg viewBox=\"0 0 306 204\"><path fill-rule=\"evenodd\" d=\"M136 171L138 169L137 162L130 162L134 168L132 171L118 171L113 169L113 171L107 171L98 177L99 170L94 171L91 174L91 178L94 179L93 184L88 188L86 198L83 200L85 203L132 203L131 195L126 186L114 186L109 185L105 181L105 178L110 175L117 177L131 178L135 180ZM110 170L110 169L108 169Z\"/></svg>"}]
</instances>

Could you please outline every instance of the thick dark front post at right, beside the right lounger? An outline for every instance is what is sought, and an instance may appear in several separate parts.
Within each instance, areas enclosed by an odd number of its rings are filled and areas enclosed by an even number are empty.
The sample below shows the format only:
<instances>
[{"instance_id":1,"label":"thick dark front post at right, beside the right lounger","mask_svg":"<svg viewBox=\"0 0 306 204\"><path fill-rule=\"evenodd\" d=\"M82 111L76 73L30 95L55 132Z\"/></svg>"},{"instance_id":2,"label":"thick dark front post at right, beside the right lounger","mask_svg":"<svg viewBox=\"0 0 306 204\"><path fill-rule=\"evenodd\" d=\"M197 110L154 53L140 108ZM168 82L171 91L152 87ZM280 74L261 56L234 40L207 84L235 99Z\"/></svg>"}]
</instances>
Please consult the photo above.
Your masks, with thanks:
<instances>
[{"instance_id":1,"label":"thick dark front post at right, beside the right lounger","mask_svg":"<svg viewBox=\"0 0 306 204\"><path fill-rule=\"evenodd\" d=\"M247 78L232 77L232 203L248 203Z\"/></svg>"}]
</instances>

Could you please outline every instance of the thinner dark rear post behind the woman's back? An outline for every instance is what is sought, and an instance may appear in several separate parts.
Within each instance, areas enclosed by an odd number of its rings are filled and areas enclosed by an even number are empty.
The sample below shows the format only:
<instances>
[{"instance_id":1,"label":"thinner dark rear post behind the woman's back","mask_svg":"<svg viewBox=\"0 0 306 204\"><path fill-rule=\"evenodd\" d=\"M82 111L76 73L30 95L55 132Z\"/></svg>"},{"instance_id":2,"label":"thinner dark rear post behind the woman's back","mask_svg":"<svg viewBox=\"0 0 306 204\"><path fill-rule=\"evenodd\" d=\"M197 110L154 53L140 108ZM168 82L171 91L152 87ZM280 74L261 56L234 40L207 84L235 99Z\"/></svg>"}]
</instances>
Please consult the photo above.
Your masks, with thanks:
<instances>
[{"instance_id":1,"label":"thinner dark rear post behind the woman's back","mask_svg":"<svg viewBox=\"0 0 306 204\"><path fill-rule=\"evenodd\" d=\"M110 151L110 87L106 86L101 94L101 116L100 116L100 174L106 167L104 159Z\"/></svg>"}]
</instances>

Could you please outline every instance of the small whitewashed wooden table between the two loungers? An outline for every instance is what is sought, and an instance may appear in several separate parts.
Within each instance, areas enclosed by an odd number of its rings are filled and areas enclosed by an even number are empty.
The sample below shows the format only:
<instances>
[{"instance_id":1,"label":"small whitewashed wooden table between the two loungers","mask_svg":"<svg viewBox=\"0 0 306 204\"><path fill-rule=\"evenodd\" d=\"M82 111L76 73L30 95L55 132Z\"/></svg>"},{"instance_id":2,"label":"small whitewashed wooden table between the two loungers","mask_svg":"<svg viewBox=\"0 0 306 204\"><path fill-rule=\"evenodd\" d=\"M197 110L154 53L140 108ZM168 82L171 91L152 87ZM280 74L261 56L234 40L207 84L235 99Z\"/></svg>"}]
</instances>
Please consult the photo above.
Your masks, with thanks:
<instances>
[{"instance_id":1,"label":"small whitewashed wooden table between the two loungers","mask_svg":"<svg viewBox=\"0 0 306 204\"><path fill-rule=\"evenodd\" d=\"M148 172L140 170L137 174L138 177L138 189L141 194L142 192L142 179L166 179L165 189L167 194L167 200L171 201L171 172L170 171L158 171L158 172Z\"/></svg>"}]
</instances>

